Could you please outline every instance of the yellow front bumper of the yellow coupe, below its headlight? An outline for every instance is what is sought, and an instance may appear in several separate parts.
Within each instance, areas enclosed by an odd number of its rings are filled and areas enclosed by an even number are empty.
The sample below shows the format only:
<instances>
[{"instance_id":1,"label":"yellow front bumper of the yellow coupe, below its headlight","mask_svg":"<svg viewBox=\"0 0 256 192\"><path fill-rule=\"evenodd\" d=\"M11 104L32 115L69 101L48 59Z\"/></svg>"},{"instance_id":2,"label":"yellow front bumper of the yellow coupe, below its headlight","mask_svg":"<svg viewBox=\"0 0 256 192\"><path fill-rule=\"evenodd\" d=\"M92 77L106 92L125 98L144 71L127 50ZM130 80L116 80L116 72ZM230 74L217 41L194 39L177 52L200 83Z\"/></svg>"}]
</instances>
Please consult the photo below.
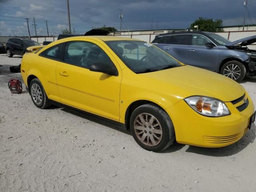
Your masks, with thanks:
<instances>
[{"instance_id":1,"label":"yellow front bumper of the yellow coupe, below its headlight","mask_svg":"<svg viewBox=\"0 0 256 192\"><path fill-rule=\"evenodd\" d=\"M184 100L166 110L174 124L178 143L201 147L224 147L240 140L248 130L250 117L254 112L251 98L248 106L239 111L236 107L243 101L226 102L231 114L222 117L207 117L195 112Z\"/></svg>"}]
</instances>

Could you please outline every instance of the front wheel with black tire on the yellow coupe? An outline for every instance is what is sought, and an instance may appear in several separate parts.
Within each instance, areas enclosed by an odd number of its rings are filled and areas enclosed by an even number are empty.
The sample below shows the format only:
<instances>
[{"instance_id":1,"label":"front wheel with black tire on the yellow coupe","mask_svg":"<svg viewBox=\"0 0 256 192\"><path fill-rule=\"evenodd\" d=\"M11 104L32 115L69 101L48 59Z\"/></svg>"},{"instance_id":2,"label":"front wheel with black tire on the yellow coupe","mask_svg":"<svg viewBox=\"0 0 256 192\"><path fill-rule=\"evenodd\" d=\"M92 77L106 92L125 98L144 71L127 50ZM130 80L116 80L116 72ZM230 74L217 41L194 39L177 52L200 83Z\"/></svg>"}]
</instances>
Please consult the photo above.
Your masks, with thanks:
<instances>
[{"instance_id":1,"label":"front wheel with black tire on the yellow coupe","mask_svg":"<svg viewBox=\"0 0 256 192\"><path fill-rule=\"evenodd\" d=\"M130 130L134 140L144 149L159 152L175 139L174 126L168 114L153 104L144 104L132 112Z\"/></svg>"}]
</instances>

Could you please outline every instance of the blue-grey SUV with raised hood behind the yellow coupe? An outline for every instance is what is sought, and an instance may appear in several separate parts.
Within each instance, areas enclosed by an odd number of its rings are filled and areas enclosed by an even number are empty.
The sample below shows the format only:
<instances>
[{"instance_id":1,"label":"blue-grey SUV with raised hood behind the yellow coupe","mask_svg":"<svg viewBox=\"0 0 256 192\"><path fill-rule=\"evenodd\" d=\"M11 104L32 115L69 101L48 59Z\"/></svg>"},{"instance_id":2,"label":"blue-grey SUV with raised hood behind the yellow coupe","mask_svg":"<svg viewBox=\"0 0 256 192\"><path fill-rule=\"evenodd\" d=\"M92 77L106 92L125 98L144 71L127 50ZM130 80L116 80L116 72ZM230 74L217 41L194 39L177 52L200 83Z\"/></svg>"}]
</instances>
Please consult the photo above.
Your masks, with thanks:
<instances>
[{"instance_id":1,"label":"blue-grey SUV with raised hood behind the yellow coupe","mask_svg":"<svg viewBox=\"0 0 256 192\"><path fill-rule=\"evenodd\" d=\"M251 36L230 42L211 32L172 32L160 34L152 41L181 62L218 72L237 82L256 75L256 50L247 45L256 42Z\"/></svg>"}]
</instances>

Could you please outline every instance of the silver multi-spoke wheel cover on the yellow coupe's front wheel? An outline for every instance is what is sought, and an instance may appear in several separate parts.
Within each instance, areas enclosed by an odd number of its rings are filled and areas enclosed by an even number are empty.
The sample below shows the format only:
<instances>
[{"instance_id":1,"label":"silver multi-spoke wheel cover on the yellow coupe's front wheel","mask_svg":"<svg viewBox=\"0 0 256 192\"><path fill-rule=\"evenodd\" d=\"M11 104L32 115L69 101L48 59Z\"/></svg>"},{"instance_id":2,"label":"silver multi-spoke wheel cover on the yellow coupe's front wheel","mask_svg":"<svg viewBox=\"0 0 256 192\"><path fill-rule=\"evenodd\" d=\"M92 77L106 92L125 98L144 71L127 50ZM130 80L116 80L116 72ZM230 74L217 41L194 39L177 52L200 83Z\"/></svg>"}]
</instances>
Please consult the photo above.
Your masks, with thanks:
<instances>
[{"instance_id":1,"label":"silver multi-spoke wheel cover on the yellow coupe's front wheel","mask_svg":"<svg viewBox=\"0 0 256 192\"><path fill-rule=\"evenodd\" d=\"M134 120L134 131L137 138L146 146L157 146L163 135L158 119L149 113L141 113Z\"/></svg>"}]
</instances>

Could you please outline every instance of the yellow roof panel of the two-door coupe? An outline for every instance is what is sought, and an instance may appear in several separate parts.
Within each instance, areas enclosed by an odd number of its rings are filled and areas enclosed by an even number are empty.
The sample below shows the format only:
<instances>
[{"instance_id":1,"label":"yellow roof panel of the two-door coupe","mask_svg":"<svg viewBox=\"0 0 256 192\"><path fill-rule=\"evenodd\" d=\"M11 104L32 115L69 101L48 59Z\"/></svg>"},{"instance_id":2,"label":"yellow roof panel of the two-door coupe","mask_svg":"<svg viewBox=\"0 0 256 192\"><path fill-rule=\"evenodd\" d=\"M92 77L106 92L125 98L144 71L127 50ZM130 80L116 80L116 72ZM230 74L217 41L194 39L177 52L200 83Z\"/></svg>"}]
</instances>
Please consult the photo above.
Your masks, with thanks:
<instances>
[{"instance_id":1,"label":"yellow roof panel of the two-door coupe","mask_svg":"<svg viewBox=\"0 0 256 192\"><path fill-rule=\"evenodd\" d=\"M72 39L92 39L92 40L102 40L102 41L120 41L120 40L130 40L130 41L143 41L139 39L133 39L133 38L126 38L126 37L120 37L120 36L76 36L76 37L69 37L63 39L65 42L66 40L72 40ZM61 39L62 40L62 39Z\"/></svg>"}]
</instances>

